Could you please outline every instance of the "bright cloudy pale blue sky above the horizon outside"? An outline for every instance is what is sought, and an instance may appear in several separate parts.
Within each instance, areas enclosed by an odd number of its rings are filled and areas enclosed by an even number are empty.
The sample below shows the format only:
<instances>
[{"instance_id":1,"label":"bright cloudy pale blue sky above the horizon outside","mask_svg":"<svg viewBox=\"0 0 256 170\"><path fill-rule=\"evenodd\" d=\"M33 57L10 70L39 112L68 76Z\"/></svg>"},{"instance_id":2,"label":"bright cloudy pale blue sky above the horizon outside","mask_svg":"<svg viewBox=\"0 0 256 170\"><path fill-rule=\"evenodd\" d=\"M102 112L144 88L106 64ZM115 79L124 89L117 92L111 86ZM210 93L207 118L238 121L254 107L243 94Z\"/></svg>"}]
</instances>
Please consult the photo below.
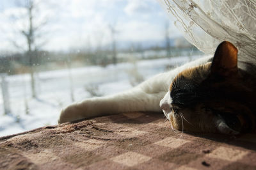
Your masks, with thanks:
<instances>
[{"instance_id":1,"label":"bright cloudy pale blue sky above the horizon outside","mask_svg":"<svg viewBox=\"0 0 256 170\"><path fill-rule=\"evenodd\" d=\"M164 39L167 21L170 37L180 36L156 0L41 0L34 15L35 26L46 21L36 39L45 50L108 45L113 37L110 27L117 42L157 42ZM1 0L0 51L26 49L20 30L28 27L27 20L26 10L16 0Z\"/></svg>"}]
</instances>

